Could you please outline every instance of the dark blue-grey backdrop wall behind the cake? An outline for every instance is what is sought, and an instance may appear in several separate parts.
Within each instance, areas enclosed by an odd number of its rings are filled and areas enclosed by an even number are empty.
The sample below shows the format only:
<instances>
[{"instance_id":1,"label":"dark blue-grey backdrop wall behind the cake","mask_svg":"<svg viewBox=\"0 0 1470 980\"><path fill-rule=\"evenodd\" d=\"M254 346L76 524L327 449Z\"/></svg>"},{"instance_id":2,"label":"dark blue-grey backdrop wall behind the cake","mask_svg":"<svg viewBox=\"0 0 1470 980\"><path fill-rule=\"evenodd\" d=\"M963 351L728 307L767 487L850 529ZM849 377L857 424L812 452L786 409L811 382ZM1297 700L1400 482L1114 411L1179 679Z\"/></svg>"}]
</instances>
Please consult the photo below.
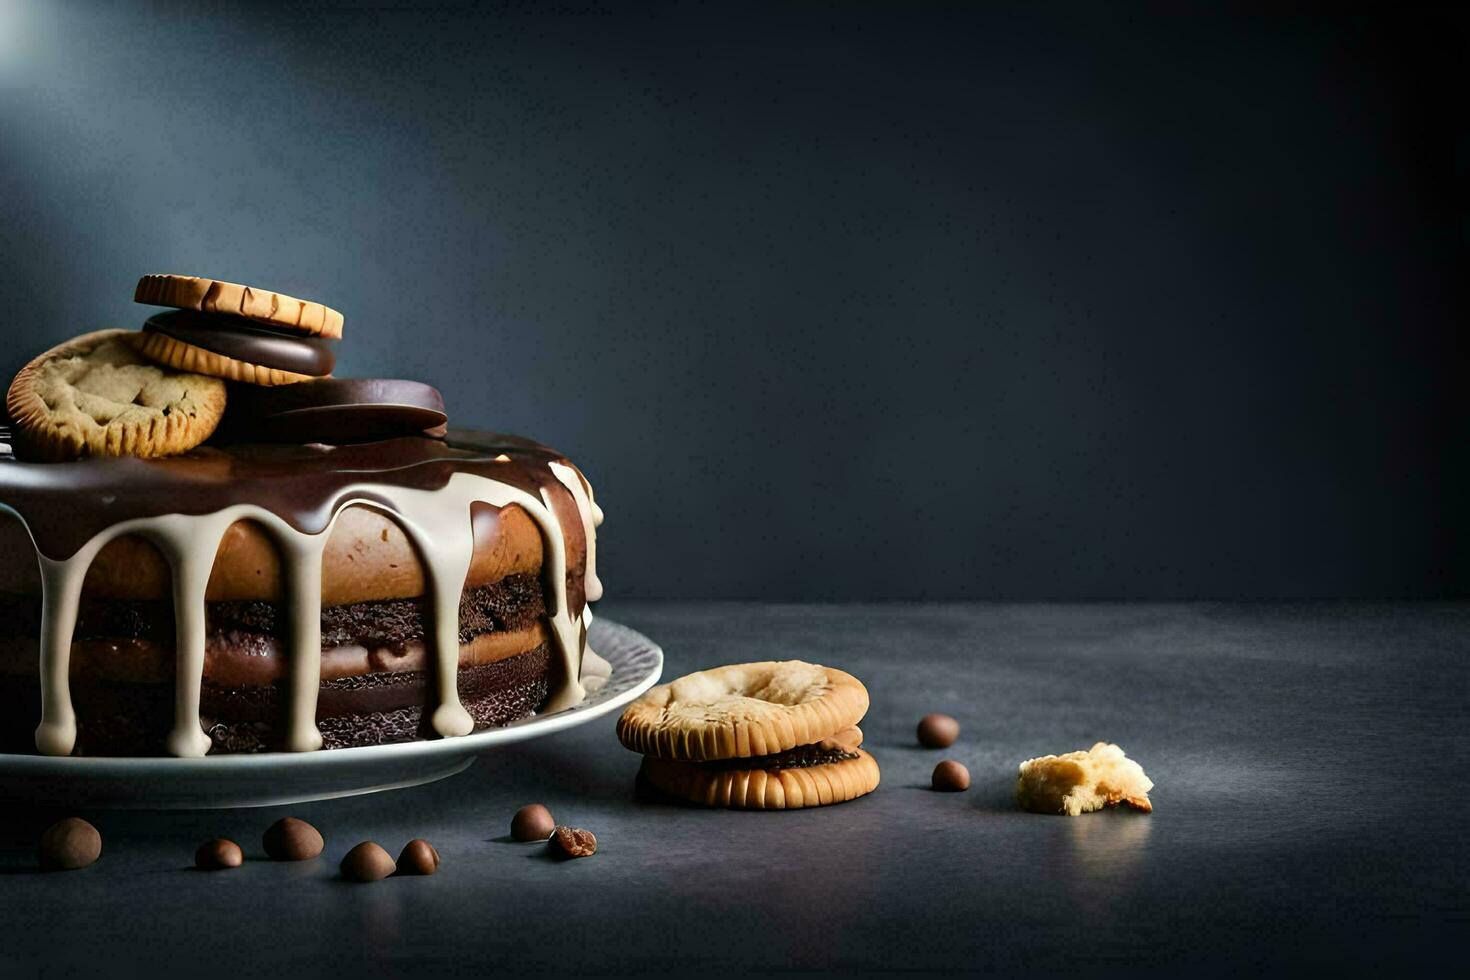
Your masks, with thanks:
<instances>
[{"instance_id":1,"label":"dark blue-grey backdrop wall behind the cake","mask_svg":"<svg viewBox=\"0 0 1470 980\"><path fill-rule=\"evenodd\" d=\"M904 15L900 10L919 10ZM201 273L578 458L617 597L1444 595L1463 21L0 1L0 369Z\"/></svg>"}]
</instances>

